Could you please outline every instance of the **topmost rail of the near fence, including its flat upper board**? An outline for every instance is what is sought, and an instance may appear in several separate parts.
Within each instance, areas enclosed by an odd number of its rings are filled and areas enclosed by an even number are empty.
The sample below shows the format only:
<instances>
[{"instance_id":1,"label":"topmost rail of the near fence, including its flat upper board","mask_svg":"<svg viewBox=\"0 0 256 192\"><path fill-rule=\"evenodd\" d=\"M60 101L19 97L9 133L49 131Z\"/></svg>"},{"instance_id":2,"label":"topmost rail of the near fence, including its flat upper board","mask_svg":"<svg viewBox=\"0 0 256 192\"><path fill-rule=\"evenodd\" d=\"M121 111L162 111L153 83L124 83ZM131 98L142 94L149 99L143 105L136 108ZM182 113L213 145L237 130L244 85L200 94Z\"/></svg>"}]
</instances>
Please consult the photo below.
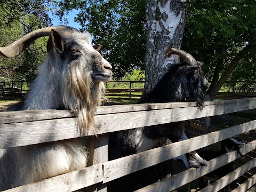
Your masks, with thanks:
<instances>
[{"instance_id":1,"label":"topmost rail of the near fence, including its flat upper board","mask_svg":"<svg viewBox=\"0 0 256 192\"><path fill-rule=\"evenodd\" d=\"M195 105L195 103L184 102L100 107L95 115L95 126L100 133L108 133L141 126L185 121L252 109L256 106L256 99L230 100L227 102L207 101L202 110L199 107L173 108ZM58 110L48 111L55 113ZM50 116L47 114L41 118L39 114L42 114L43 111L36 110L1 112L0 149L85 136L79 132L75 117L70 117L72 115L68 111L63 111L63 115L62 111L59 110L58 112L59 114L53 115L56 119L49 119ZM27 119L26 122L20 116L18 117L19 114ZM29 118L33 119L33 122L27 122ZM41 120L39 121L39 119ZM21 122L13 123L19 121ZM93 135L93 133L89 132L88 135Z\"/></svg>"}]
</instances>

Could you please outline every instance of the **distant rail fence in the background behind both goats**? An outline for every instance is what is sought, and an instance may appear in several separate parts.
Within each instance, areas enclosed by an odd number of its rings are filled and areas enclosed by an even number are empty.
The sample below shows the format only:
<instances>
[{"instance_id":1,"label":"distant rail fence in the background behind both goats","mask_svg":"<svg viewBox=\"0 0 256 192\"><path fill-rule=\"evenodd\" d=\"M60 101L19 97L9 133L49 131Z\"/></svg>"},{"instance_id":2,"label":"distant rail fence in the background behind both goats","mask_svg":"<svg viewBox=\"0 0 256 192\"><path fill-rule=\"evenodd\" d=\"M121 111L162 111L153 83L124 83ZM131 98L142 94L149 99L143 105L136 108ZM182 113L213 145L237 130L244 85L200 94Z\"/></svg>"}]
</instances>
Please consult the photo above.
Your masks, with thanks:
<instances>
[{"instance_id":1,"label":"distant rail fence in the background behind both goats","mask_svg":"<svg viewBox=\"0 0 256 192\"><path fill-rule=\"evenodd\" d=\"M143 92L144 83L144 81L106 82L106 96L109 99L138 100ZM23 95L27 91L25 81L0 82L0 95ZM233 99L256 97L255 91L256 81L227 81L214 99L230 99L230 95L236 96Z\"/></svg>"}]
</instances>

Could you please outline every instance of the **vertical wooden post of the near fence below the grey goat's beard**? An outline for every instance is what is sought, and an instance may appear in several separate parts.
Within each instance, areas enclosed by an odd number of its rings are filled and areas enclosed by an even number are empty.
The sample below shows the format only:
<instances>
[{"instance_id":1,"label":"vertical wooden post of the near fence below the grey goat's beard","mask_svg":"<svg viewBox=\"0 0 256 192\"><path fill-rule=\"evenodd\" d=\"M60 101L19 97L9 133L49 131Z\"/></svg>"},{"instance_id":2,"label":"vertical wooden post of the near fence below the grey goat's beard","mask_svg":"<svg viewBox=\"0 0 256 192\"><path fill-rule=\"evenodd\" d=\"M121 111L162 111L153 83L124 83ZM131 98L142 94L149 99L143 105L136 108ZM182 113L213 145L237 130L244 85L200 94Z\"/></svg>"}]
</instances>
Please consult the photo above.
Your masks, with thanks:
<instances>
[{"instance_id":1,"label":"vertical wooden post of the near fence below the grey goat's beard","mask_svg":"<svg viewBox=\"0 0 256 192\"><path fill-rule=\"evenodd\" d=\"M89 137L89 166L108 161L108 133ZM107 183L97 183L85 188L87 192L107 192Z\"/></svg>"}]
</instances>

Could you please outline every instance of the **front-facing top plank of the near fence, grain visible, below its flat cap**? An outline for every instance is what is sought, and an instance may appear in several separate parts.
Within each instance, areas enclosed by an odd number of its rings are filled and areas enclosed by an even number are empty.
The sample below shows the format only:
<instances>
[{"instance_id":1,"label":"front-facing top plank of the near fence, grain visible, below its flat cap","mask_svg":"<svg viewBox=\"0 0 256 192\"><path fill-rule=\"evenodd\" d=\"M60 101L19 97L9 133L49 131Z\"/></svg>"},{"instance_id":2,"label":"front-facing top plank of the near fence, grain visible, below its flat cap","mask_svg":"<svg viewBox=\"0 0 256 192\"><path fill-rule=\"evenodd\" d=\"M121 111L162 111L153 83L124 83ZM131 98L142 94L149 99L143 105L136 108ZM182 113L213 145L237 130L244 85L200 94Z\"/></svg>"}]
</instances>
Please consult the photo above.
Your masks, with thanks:
<instances>
[{"instance_id":1,"label":"front-facing top plank of the near fence, grain visible, below its flat cap","mask_svg":"<svg viewBox=\"0 0 256 192\"><path fill-rule=\"evenodd\" d=\"M163 105L166 107L166 103L162 103L160 105L146 105L146 108L149 111L134 111L111 114L114 112L111 110L117 109L118 111L121 110L123 106L112 108L110 107L108 110L106 110L110 114L95 115L95 126L98 127L100 133L107 133L133 129L141 126L150 126L162 123L184 121L187 119L194 119L205 116L220 115L223 113L246 110L256 106L256 98L250 102L249 100L250 99L246 100L247 102L241 100L235 103L225 103L225 105L208 105L205 106L203 110L200 110L198 107L150 110L152 108L158 108L159 106L163 107ZM241 103L243 105L241 105ZM181 103L177 104L181 106ZM143 105L136 105L135 107L137 106L139 106L140 109L143 108ZM173 107L175 105L171 106ZM132 110L132 108L129 109ZM93 135L93 133L89 132L88 135ZM0 149L31 145L41 142L70 139L79 136L85 135L80 134L76 125L75 117L34 122L0 124Z\"/></svg>"}]
</instances>

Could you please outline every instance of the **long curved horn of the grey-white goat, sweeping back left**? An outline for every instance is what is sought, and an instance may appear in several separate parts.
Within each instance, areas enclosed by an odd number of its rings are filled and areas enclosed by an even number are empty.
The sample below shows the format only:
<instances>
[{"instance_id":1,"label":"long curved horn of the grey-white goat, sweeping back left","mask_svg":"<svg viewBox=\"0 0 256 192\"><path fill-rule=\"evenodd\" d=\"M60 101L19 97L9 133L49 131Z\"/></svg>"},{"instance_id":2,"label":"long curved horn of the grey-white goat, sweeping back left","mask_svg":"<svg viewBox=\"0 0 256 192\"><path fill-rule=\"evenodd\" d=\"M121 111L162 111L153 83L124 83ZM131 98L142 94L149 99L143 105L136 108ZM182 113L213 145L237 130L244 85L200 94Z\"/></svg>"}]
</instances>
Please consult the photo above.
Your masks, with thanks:
<instances>
[{"instance_id":1,"label":"long curved horn of the grey-white goat, sweeping back left","mask_svg":"<svg viewBox=\"0 0 256 192\"><path fill-rule=\"evenodd\" d=\"M42 29L37 29L35 31L31 31L30 33L24 35L19 38L17 41L13 42L10 45L5 47L0 47L0 55L13 58L16 55L20 54L23 50L25 50L31 43L33 43L37 38L43 36L50 36L52 29L74 29L68 26L57 26L57 27L45 27Z\"/></svg>"}]
</instances>

